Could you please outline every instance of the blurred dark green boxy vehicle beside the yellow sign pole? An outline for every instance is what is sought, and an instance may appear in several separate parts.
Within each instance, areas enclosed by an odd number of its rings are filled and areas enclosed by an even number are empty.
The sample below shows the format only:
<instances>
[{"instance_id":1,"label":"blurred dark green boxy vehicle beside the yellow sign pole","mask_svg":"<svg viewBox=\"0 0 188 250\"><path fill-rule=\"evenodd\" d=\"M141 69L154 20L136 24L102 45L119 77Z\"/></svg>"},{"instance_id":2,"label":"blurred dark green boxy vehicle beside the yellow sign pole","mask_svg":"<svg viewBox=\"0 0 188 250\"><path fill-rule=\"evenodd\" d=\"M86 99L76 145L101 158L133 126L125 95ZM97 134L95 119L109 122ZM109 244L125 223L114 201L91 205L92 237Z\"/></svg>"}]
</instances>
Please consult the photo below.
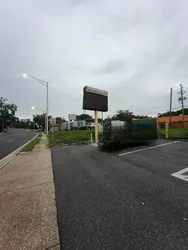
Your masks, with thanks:
<instances>
[{"instance_id":1,"label":"blurred dark green boxy vehicle beside the yellow sign pole","mask_svg":"<svg viewBox=\"0 0 188 250\"><path fill-rule=\"evenodd\" d=\"M157 138L156 119L107 120L103 125L103 133L99 137L99 146L126 142L146 142Z\"/></svg>"}]
</instances>

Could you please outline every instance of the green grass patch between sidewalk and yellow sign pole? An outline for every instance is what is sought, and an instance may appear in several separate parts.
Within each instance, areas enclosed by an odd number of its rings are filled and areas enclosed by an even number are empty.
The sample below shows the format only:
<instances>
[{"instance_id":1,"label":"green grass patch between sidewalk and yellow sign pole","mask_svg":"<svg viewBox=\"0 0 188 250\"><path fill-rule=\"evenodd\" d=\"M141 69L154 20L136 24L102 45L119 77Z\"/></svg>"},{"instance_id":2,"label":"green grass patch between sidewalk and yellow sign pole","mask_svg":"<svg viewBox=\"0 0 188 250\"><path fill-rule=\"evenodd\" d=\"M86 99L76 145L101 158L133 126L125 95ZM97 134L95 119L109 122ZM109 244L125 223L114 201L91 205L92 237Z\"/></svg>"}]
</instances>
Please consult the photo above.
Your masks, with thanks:
<instances>
[{"instance_id":1,"label":"green grass patch between sidewalk and yellow sign pole","mask_svg":"<svg viewBox=\"0 0 188 250\"><path fill-rule=\"evenodd\" d=\"M72 131L60 131L54 133L53 137L50 133L48 135L49 147L53 147L59 144L72 144L72 143L83 143L90 141L90 134L93 134L94 140L94 131L90 130L72 130Z\"/></svg>"}]
</instances>

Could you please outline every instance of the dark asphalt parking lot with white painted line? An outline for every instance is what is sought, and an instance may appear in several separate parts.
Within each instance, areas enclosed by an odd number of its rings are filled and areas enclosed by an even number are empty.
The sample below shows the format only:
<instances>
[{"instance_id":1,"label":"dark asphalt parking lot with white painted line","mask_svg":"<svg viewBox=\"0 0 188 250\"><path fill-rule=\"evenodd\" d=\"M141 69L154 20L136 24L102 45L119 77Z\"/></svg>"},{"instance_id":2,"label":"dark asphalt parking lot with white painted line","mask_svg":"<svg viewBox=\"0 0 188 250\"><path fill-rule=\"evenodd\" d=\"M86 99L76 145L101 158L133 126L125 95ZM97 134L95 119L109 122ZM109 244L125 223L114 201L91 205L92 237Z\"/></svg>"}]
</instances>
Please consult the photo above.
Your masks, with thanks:
<instances>
[{"instance_id":1,"label":"dark asphalt parking lot with white painted line","mask_svg":"<svg viewBox=\"0 0 188 250\"><path fill-rule=\"evenodd\" d=\"M188 249L188 144L145 148L52 150L61 249Z\"/></svg>"}]
</instances>

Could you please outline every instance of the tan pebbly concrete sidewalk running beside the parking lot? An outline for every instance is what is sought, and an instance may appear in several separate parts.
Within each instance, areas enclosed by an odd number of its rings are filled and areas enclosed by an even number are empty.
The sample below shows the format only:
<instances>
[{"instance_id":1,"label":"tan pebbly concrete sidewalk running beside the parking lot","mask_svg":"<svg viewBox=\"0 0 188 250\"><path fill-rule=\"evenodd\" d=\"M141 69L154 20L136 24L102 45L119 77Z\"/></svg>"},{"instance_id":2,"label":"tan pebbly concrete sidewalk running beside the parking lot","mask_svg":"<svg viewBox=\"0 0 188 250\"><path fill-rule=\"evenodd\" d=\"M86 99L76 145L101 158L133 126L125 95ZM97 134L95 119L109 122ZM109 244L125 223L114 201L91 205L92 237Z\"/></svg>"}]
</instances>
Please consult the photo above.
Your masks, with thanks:
<instances>
[{"instance_id":1,"label":"tan pebbly concrete sidewalk running beside the parking lot","mask_svg":"<svg viewBox=\"0 0 188 250\"><path fill-rule=\"evenodd\" d=\"M0 249L60 249L51 153L42 137L0 170Z\"/></svg>"}]
</instances>

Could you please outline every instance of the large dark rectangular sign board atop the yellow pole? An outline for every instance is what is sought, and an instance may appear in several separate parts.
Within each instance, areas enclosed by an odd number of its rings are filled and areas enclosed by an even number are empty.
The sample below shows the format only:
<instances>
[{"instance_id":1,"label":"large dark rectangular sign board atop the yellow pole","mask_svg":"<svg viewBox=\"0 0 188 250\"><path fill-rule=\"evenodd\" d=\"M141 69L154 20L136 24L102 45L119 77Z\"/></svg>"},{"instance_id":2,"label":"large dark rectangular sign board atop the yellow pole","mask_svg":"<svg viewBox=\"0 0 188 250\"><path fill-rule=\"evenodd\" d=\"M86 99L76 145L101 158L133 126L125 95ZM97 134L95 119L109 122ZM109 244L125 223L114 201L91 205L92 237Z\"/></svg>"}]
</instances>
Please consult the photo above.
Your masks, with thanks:
<instances>
[{"instance_id":1,"label":"large dark rectangular sign board atop the yellow pole","mask_svg":"<svg viewBox=\"0 0 188 250\"><path fill-rule=\"evenodd\" d=\"M83 92L83 109L108 111L107 91L85 86Z\"/></svg>"}]
</instances>

